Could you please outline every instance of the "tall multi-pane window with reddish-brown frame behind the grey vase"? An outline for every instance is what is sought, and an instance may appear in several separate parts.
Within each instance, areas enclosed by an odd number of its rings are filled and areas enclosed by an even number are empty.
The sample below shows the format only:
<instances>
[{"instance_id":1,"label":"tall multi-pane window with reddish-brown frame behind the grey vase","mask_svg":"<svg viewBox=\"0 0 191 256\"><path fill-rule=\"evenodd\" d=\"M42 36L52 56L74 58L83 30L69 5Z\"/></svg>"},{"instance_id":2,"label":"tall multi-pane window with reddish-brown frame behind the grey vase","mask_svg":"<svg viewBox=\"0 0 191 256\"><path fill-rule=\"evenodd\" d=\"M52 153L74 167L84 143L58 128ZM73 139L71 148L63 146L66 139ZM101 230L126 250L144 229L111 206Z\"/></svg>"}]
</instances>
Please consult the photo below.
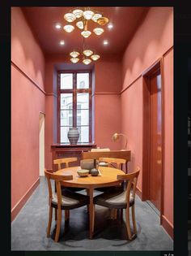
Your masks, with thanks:
<instances>
[{"instance_id":1,"label":"tall multi-pane window with reddish-brown frame behind the grey vase","mask_svg":"<svg viewBox=\"0 0 191 256\"><path fill-rule=\"evenodd\" d=\"M91 142L91 72L58 72L58 141L70 143L70 127L79 128L79 143Z\"/></svg>"}]
</instances>

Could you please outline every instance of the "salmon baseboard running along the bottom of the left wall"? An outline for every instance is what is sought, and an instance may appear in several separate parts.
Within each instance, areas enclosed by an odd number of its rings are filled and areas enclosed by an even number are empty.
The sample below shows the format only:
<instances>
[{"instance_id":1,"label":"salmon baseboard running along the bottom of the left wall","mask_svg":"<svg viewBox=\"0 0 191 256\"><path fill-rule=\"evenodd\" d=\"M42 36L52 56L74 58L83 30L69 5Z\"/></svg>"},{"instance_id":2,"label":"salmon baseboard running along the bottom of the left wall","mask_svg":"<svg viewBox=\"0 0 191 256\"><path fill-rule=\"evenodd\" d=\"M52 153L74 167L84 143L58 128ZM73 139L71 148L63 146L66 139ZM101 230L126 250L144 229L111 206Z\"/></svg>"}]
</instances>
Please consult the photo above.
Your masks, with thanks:
<instances>
[{"instance_id":1,"label":"salmon baseboard running along the bottom of the left wall","mask_svg":"<svg viewBox=\"0 0 191 256\"><path fill-rule=\"evenodd\" d=\"M15 217L19 214L19 211L23 208L25 203L28 201L28 198L31 197L32 193L40 184L40 178L38 178L32 186L28 189L27 193L23 195L23 197L17 202L17 204L11 210L11 221L15 219Z\"/></svg>"}]
</instances>

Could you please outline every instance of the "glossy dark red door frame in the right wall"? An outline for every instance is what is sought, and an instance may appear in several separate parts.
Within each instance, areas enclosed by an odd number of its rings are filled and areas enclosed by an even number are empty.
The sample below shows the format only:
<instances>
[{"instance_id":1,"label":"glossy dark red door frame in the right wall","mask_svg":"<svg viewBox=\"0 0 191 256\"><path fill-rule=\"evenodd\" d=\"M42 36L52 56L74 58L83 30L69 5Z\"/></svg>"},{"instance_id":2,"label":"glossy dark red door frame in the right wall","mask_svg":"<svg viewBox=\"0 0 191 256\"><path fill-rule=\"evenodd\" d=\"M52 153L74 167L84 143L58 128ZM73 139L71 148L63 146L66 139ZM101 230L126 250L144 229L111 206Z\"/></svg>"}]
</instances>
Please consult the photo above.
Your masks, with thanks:
<instances>
[{"instance_id":1,"label":"glossy dark red door frame in the right wall","mask_svg":"<svg viewBox=\"0 0 191 256\"><path fill-rule=\"evenodd\" d=\"M151 67L142 73L142 201L149 198L149 172L150 172L150 89L148 77L160 70L161 75L161 200L160 200L160 224L163 215L163 167L164 167L164 90L163 90L163 58L158 59Z\"/></svg>"}]
</instances>

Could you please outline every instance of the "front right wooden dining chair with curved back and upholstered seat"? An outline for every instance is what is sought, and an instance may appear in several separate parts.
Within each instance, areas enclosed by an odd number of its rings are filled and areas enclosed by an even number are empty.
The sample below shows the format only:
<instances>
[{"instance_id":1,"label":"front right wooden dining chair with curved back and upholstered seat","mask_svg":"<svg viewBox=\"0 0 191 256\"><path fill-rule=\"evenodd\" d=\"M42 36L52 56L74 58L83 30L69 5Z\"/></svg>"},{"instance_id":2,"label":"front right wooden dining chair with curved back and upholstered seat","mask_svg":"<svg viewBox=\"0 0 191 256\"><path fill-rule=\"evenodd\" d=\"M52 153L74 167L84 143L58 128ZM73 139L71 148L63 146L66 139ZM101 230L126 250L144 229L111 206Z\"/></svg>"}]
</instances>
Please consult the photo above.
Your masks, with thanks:
<instances>
[{"instance_id":1,"label":"front right wooden dining chair with curved back and upholstered seat","mask_svg":"<svg viewBox=\"0 0 191 256\"><path fill-rule=\"evenodd\" d=\"M128 234L129 240L132 240L137 236L134 202L135 202L135 190L138 182L139 172L140 172L140 168L138 167L137 170L134 172L117 176L117 180L128 181L127 188L125 190L117 191L113 189L94 197L95 205L108 207L109 209L122 209L122 210L125 209L126 228L127 228L127 234ZM130 221L129 221L130 207L132 209L132 220L133 220L133 228L134 228L133 235L130 230ZM94 220L95 220L95 216L93 218L93 224L92 224L93 227L94 227Z\"/></svg>"}]
</instances>

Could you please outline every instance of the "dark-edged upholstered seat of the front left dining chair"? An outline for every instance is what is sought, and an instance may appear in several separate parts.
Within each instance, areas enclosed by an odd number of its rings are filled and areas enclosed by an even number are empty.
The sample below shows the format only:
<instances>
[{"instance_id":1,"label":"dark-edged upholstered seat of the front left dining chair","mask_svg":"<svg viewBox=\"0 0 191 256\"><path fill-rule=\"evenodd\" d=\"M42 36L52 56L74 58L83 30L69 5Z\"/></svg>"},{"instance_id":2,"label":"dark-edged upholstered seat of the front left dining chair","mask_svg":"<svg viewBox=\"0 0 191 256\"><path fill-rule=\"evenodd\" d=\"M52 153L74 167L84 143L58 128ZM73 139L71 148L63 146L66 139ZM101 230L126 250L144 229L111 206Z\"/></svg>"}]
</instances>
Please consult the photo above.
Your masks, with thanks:
<instances>
[{"instance_id":1,"label":"dark-edged upholstered seat of the front left dining chair","mask_svg":"<svg viewBox=\"0 0 191 256\"><path fill-rule=\"evenodd\" d=\"M80 193L74 193L67 189L62 191L61 208L64 210L70 210L70 209L78 208L81 206L85 206L85 205L89 204L89 202L90 202L90 199L86 195L83 195ZM57 208L57 194L56 193L53 193L52 206Z\"/></svg>"}]
</instances>

